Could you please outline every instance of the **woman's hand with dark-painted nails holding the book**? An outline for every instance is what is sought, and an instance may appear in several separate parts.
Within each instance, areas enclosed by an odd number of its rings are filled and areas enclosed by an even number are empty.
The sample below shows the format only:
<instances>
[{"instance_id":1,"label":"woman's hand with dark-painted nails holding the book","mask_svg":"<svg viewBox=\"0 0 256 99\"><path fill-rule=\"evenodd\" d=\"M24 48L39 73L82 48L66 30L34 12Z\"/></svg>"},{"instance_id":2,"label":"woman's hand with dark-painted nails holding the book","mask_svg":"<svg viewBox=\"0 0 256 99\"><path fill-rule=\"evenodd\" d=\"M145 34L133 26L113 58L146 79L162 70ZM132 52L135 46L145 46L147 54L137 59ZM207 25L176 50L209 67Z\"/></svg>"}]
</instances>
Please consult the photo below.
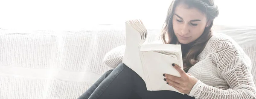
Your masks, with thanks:
<instances>
[{"instance_id":1,"label":"woman's hand with dark-painted nails holding the book","mask_svg":"<svg viewBox=\"0 0 256 99\"><path fill-rule=\"evenodd\" d=\"M166 77L163 80L165 80L168 85L171 85L181 93L189 94L198 79L196 79L191 74L187 74L180 68L180 66L177 66L174 63L172 66L180 73L180 77L163 74L163 76Z\"/></svg>"}]
</instances>

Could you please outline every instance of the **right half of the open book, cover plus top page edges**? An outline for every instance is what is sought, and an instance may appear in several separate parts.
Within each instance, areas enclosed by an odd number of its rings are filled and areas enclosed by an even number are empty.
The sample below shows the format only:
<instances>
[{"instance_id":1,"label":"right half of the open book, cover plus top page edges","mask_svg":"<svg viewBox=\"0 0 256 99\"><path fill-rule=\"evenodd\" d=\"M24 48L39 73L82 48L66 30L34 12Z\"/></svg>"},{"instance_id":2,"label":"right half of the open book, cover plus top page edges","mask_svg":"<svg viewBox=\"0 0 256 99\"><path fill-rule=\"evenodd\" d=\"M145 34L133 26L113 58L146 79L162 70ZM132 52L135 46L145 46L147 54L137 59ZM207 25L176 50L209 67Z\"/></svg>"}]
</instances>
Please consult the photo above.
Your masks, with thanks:
<instances>
[{"instance_id":1,"label":"right half of the open book, cover plus top page edges","mask_svg":"<svg viewBox=\"0 0 256 99\"><path fill-rule=\"evenodd\" d=\"M143 65L147 71L151 91L169 90L177 91L163 80L163 74L171 74L180 77L179 72L172 66L172 63L183 69L181 47L172 44L145 44L141 46L143 53ZM179 92L180 93L180 92Z\"/></svg>"}]
</instances>

